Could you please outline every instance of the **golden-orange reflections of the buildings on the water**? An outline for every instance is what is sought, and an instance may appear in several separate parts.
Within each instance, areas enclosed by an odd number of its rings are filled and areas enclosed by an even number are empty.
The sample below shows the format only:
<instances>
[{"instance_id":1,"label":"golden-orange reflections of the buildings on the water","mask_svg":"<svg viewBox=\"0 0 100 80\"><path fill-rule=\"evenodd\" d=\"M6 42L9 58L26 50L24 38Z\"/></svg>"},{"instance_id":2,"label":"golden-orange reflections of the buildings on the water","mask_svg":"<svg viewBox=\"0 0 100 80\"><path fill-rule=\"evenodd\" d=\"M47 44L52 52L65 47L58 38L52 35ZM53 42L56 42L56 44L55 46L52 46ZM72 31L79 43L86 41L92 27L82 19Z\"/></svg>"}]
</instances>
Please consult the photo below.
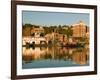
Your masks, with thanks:
<instances>
[{"instance_id":1,"label":"golden-orange reflections of the buildings on the water","mask_svg":"<svg viewBox=\"0 0 100 80\"><path fill-rule=\"evenodd\" d=\"M46 60L66 61L66 64L67 61L71 61L70 63L73 64L87 65L89 60L89 49L66 47L23 47L24 64L32 63L34 61L43 61L45 65ZM23 66L25 66L24 64Z\"/></svg>"}]
</instances>

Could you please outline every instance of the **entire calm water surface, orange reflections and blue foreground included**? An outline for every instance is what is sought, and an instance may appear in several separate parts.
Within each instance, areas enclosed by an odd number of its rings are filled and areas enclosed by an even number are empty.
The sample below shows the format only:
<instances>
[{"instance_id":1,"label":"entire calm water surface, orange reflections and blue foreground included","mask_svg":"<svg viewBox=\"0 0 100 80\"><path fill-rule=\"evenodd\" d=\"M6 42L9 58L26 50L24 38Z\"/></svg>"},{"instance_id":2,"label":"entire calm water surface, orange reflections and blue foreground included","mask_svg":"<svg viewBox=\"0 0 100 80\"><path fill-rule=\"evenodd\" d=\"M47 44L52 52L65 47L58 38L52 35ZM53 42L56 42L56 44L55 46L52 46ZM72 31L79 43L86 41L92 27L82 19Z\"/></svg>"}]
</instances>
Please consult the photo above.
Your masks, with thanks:
<instances>
[{"instance_id":1,"label":"entire calm water surface, orange reflections and blue foreground included","mask_svg":"<svg viewBox=\"0 0 100 80\"><path fill-rule=\"evenodd\" d=\"M88 65L89 48L23 47L23 69Z\"/></svg>"}]
</instances>

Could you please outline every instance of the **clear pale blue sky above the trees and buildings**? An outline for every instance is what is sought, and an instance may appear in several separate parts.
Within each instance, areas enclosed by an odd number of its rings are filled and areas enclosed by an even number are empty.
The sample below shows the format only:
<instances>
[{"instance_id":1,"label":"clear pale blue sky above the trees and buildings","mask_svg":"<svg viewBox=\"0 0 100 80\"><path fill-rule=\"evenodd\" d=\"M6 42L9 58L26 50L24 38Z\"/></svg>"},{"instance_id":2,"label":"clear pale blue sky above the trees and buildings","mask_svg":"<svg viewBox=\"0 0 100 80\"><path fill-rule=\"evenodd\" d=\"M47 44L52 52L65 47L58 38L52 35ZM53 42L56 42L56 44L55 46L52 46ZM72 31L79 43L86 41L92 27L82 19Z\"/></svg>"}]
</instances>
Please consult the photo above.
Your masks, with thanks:
<instances>
[{"instance_id":1,"label":"clear pale blue sky above the trees and buildings","mask_svg":"<svg viewBox=\"0 0 100 80\"><path fill-rule=\"evenodd\" d=\"M45 11L23 11L23 24L35 24L42 26L72 25L83 21L89 25L88 13L68 13L68 12L45 12Z\"/></svg>"}]
</instances>

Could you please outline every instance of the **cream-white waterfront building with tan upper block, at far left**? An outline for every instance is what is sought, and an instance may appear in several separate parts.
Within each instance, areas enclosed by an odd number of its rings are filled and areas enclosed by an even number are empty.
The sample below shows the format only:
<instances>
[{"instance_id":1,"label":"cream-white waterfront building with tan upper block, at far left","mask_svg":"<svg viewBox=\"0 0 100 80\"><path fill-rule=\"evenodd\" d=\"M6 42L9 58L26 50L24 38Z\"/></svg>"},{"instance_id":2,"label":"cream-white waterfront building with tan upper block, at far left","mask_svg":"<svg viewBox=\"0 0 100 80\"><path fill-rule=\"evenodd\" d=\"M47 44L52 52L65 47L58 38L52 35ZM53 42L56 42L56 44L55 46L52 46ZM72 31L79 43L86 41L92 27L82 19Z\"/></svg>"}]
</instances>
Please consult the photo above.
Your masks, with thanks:
<instances>
[{"instance_id":1,"label":"cream-white waterfront building with tan upper block, at far left","mask_svg":"<svg viewBox=\"0 0 100 80\"><path fill-rule=\"evenodd\" d=\"M28 32L30 33L29 36L23 37L23 45L26 45L26 43L34 43L34 44L41 44L42 42L46 42L45 37L41 34L44 34L44 29L42 27L31 27L31 30Z\"/></svg>"}]
</instances>

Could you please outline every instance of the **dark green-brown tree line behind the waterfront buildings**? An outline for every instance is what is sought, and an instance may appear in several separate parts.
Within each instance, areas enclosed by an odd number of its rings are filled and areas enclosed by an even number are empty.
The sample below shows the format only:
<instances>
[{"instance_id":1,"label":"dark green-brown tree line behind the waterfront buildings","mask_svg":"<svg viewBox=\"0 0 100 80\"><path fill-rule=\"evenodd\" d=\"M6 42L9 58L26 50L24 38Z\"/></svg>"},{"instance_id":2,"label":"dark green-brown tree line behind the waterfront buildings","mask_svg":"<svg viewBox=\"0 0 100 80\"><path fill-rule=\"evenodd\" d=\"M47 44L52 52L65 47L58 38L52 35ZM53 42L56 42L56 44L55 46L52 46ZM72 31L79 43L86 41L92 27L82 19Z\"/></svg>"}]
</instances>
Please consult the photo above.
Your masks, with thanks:
<instances>
[{"instance_id":1,"label":"dark green-brown tree line behind the waterfront buildings","mask_svg":"<svg viewBox=\"0 0 100 80\"><path fill-rule=\"evenodd\" d=\"M67 35L67 37L70 37L73 35L72 26L69 25L54 25L54 26L40 26L40 25L34 25L34 24L24 24L23 26L23 36L31 35L32 28L40 28L42 27L44 29L44 34L50 34L52 32L64 34Z\"/></svg>"}]
</instances>

